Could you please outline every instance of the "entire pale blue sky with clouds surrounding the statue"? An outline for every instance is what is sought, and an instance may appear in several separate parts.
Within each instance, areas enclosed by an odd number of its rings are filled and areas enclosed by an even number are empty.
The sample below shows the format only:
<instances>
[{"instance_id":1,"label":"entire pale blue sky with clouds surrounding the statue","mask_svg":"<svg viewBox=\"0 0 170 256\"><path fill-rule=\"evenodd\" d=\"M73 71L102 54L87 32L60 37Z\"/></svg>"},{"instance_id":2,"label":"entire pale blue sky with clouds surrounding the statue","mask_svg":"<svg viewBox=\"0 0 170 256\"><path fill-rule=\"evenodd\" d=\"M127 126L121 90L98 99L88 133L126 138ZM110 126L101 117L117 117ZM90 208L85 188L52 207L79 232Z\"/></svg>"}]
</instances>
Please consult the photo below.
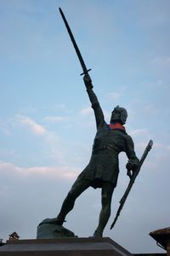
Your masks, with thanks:
<instances>
[{"instance_id":1,"label":"entire pale blue sky with clouds surrounding the statue","mask_svg":"<svg viewBox=\"0 0 170 256\"><path fill-rule=\"evenodd\" d=\"M36 238L90 159L94 113L59 7L92 69L106 122L120 105L137 156L154 142L110 230L129 180L120 154L104 236L130 253L165 253L149 233L168 227L170 216L169 0L0 0L0 238ZM86 190L65 228L92 236L100 193Z\"/></svg>"}]
</instances>

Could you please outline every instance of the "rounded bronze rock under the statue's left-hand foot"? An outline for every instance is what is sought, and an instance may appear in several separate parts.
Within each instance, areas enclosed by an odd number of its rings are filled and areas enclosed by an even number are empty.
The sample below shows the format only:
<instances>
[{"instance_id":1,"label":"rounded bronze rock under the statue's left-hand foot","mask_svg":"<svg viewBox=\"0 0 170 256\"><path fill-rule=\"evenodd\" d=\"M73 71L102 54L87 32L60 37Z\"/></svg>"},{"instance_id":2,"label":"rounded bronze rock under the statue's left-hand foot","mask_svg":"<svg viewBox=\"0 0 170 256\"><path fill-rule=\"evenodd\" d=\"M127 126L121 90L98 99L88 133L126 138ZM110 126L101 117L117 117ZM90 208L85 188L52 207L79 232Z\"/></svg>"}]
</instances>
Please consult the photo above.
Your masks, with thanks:
<instances>
[{"instance_id":1,"label":"rounded bronze rock under the statue's left-hand foot","mask_svg":"<svg viewBox=\"0 0 170 256\"><path fill-rule=\"evenodd\" d=\"M51 218L44 219L37 226L37 239L55 239L77 237L71 230L58 224L53 224Z\"/></svg>"}]
</instances>

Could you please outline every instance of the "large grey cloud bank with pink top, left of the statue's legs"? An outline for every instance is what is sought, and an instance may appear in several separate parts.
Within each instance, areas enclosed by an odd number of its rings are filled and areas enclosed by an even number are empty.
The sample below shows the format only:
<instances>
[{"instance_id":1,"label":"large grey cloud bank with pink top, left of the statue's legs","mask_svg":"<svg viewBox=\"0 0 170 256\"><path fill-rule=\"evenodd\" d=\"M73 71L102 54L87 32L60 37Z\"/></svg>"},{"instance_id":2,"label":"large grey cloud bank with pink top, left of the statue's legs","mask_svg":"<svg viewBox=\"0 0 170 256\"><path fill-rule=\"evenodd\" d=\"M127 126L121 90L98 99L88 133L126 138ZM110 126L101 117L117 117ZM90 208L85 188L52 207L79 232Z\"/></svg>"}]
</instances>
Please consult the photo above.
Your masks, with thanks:
<instances>
[{"instance_id":1,"label":"large grey cloud bank with pink top, left of the statue's legs","mask_svg":"<svg viewBox=\"0 0 170 256\"><path fill-rule=\"evenodd\" d=\"M0 237L4 239L14 230L22 239L36 237L37 224L56 214L77 172L78 169L68 166L26 168L0 162Z\"/></svg>"}]
</instances>

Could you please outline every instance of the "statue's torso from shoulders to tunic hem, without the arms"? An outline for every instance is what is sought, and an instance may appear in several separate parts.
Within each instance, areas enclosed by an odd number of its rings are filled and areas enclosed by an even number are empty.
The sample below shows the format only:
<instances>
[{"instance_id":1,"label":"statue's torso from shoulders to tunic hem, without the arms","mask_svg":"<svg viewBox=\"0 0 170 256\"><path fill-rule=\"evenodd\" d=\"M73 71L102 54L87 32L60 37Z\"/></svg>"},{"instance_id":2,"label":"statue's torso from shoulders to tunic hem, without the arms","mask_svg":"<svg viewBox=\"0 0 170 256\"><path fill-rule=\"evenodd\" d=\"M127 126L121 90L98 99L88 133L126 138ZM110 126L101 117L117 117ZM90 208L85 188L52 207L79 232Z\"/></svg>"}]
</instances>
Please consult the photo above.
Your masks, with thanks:
<instances>
[{"instance_id":1,"label":"statue's torso from shoulders to tunic hem, without the arms","mask_svg":"<svg viewBox=\"0 0 170 256\"><path fill-rule=\"evenodd\" d=\"M92 156L88 166L82 171L80 177L111 182L116 186L119 173L118 154L126 151L127 134L119 130L111 130L108 125L98 128L94 138Z\"/></svg>"}]
</instances>

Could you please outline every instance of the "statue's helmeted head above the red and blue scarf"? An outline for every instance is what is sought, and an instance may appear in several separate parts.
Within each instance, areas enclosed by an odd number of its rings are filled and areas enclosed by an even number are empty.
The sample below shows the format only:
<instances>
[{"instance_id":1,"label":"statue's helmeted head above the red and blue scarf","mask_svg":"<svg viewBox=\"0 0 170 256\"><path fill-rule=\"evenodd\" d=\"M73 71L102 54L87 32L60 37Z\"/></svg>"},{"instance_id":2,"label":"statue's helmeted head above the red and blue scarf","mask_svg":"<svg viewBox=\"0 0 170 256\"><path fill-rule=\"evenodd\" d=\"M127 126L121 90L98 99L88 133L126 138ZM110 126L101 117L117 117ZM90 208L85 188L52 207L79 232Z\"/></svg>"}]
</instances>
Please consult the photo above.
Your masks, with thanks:
<instances>
[{"instance_id":1,"label":"statue's helmeted head above the red and blue scarf","mask_svg":"<svg viewBox=\"0 0 170 256\"><path fill-rule=\"evenodd\" d=\"M111 113L111 123L118 122L122 125L126 123L127 120L127 110L116 106Z\"/></svg>"}]
</instances>

